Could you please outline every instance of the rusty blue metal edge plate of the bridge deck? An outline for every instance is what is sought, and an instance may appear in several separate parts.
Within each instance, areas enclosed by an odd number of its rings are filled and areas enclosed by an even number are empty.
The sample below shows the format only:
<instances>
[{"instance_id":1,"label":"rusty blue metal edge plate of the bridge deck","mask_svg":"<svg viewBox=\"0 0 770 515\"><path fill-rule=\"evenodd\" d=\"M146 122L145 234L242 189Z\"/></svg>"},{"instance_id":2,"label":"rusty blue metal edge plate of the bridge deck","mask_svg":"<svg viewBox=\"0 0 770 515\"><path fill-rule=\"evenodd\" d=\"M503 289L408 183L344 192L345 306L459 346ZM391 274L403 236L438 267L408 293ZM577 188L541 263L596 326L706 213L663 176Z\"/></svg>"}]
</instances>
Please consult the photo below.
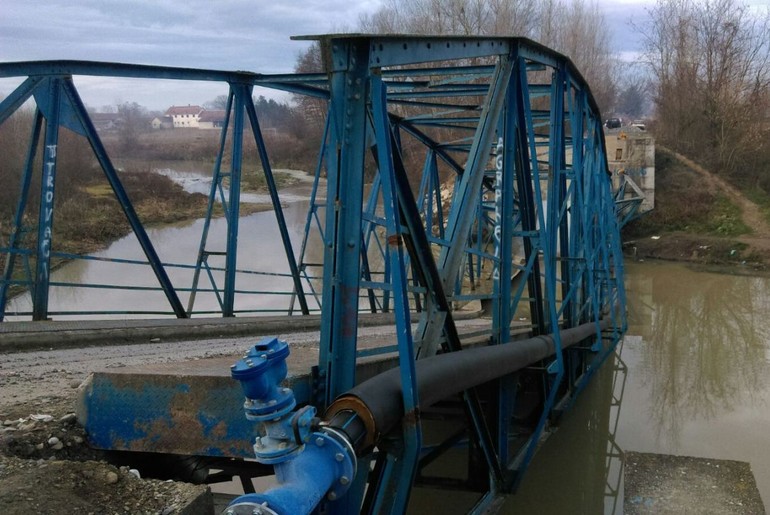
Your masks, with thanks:
<instances>
[{"instance_id":1,"label":"rusty blue metal edge plate of the bridge deck","mask_svg":"<svg viewBox=\"0 0 770 515\"><path fill-rule=\"evenodd\" d=\"M473 334L477 323L485 322L469 320L466 331ZM359 348L389 346L392 340L391 328L383 326L381 333L374 328L359 339ZM310 399L310 370L318 363L318 354L313 345L291 346L284 384L294 390L298 403ZM78 417L97 448L253 458L256 425L246 420L243 392L230 377L230 365L240 357L96 371L81 395ZM395 352L361 358L356 382L396 365Z\"/></svg>"}]
</instances>

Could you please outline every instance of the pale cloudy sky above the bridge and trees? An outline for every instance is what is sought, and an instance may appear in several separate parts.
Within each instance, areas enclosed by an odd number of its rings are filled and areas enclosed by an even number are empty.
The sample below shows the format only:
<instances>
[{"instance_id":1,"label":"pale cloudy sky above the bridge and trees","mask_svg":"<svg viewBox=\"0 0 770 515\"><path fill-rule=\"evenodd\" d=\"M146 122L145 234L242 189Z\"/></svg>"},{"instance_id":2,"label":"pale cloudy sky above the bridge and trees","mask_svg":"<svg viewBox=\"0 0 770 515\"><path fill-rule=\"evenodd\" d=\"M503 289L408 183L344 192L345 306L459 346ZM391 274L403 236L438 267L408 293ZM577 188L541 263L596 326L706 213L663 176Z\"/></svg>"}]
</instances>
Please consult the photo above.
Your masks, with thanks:
<instances>
[{"instance_id":1,"label":"pale cloudy sky above the bridge and trees","mask_svg":"<svg viewBox=\"0 0 770 515\"><path fill-rule=\"evenodd\" d=\"M770 3L770 0L755 0ZM652 0L600 0L617 50L638 50L630 17ZM261 73L291 72L308 43L292 35L353 29L380 0L0 0L0 62L80 59ZM0 79L0 94L19 81ZM206 83L76 78L87 105L202 104ZM183 87L180 87L183 86ZM266 96L269 92L261 91ZM281 97L277 97L281 98Z\"/></svg>"}]
</instances>

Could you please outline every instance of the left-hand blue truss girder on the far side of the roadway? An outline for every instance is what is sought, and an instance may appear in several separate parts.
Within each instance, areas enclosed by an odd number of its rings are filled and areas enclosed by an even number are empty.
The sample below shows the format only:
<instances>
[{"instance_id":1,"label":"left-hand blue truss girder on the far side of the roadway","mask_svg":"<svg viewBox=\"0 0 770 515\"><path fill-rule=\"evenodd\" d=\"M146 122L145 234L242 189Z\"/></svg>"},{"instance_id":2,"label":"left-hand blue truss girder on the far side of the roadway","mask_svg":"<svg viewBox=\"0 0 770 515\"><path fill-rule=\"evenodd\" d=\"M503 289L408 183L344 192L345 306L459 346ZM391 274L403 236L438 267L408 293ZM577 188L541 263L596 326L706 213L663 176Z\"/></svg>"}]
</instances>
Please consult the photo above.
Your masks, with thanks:
<instances>
[{"instance_id":1,"label":"left-hand blue truss girder on the far side of the roadway","mask_svg":"<svg viewBox=\"0 0 770 515\"><path fill-rule=\"evenodd\" d=\"M74 75L109 76L140 79L175 79L175 80L205 80L225 82L229 88L227 120L221 131L221 140L218 153L214 159L212 188L209 195L208 208L205 215L204 228L201 232L200 248L195 264L184 264L182 267L194 270L192 285L182 287L173 284L169 278L169 269L178 268L179 265L163 263L147 235L143 223L137 217L135 208L123 187L119 174L94 127L86 107L80 98L73 82ZM109 186L118 201L132 233L139 242L146 261L114 260L117 263L136 265L149 265L156 277L158 287L163 292L168 302L169 312L146 312L125 309L118 313L98 312L79 313L105 314L105 315L160 315L171 314L177 318L188 318L194 314L196 294L202 291L199 284L200 275L206 273L209 279L210 289L216 296L219 305L219 313L222 316L232 317L236 314L235 296L238 291L236 273L244 272L237 268L239 212L240 212L240 184L243 168L244 138L250 131L257 149L257 157L265 175L268 193L270 195L273 211L276 216L277 227L286 256L286 275L291 278L294 286L293 298L299 303L299 311L308 314L309 309L304 294L303 277L300 273L293 251L292 242L283 216L283 208L278 197L278 189L273 177L270 160L262 136L259 121L251 101L251 93L255 85L283 89L311 96L325 97L324 90L313 85L316 82L310 80L309 84L298 82L295 76L271 75L246 72L222 72L213 70L181 69L158 66L127 65L115 63L93 63L86 61L50 61L30 63L0 63L0 77L27 76L8 97L0 102L0 124L16 113L29 99L34 99L36 105L35 122L31 131L28 145L27 158L22 168L22 180L20 181L20 193L17 200L14 220L11 224L11 234L7 247L2 248L5 254L2 280L0 280L0 321L5 318L6 307L13 286L26 287L32 297L33 320L46 320L51 315L68 315L66 311L51 313L49 310L49 292L51 287L51 257L62 259L79 259L81 256L56 252L54 248L54 219L55 219L55 186L57 183L57 155L56 148L61 128L73 131L82 136L91 147ZM43 132L43 149L40 152L41 124L45 121ZM230 138L228 139L228 136ZM227 170L222 169L223 158L230 154L230 165ZM39 155L40 154L40 155ZM42 185L39 194L40 212L37 217L30 217L27 208L30 199L30 185L35 174L33 169L35 159L42 159ZM222 187L223 179L229 179L231 187L226 191ZM227 235L224 249L210 250L207 242L210 221L214 216L215 204L221 204L227 221ZM24 234L30 232L27 227L28 218L33 219L36 225L37 237L34 239L35 248L25 248L23 244ZM211 255L221 256L224 264L220 268L209 264ZM87 257L86 257L87 258ZM14 276L17 261L21 259L27 269L27 279L20 280ZM108 260L109 261L109 260ZM30 262L34 262L35 270L31 270ZM214 277L214 272L223 276L221 284ZM245 271L249 273L249 271ZM307 281L307 278L305 278ZM107 289L121 289L114 285L72 285L55 284L58 287L95 287ZM131 286L129 286L129 289ZM134 287L136 288L136 287ZM150 290L146 286L140 289ZM187 309L183 306L180 297L188 294ZM136 309L136 308L134 308ZM293 308L290 308L290 311Z\"/></svg>"}]
</instances>

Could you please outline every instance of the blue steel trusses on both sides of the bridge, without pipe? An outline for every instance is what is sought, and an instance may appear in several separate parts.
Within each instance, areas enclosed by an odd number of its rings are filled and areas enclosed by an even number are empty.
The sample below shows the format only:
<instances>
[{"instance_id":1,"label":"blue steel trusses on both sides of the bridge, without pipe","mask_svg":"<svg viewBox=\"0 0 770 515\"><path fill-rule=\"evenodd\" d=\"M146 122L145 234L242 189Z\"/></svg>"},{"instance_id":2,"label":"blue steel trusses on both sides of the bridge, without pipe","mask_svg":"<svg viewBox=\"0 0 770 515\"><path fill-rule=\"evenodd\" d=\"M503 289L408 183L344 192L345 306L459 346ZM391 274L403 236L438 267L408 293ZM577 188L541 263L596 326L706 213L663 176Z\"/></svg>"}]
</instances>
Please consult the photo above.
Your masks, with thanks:
<instances>
[{"instance_id":1,"label":"blue steel trusses on both sides of the bridge, without pipe","mask_svg":"<svg viewBox=\"0 0 770 515\"><path fill-rule=\"evenodd\" d=\"M403 513L413 486L428 484L479 492L471 511L481 513L515 489L543 437L625 331L618 220L600 113L571 62L529 40L360 35L319 39L327 63L324 74L260 75L83 62L0 64L0 76L28 77L0 103L0 123L32 95L39 109L16 225L21 227L44 120L46 147L56 144L60 126L86 137L132 219L130 200L121 193L72 75L227 83L228 106L234 109L222 132L205 225L214 203L221 202L228 219L227 246L221 252L209 250L204 229L187 309L177 296L185 290L164 279L167 265L153 257L152 243L147 239L142 245L172 312L178 317L192 314L200 274L205 272L214 283L207 259L215 254L224 255L227 263L224 286L214 288L221 313L238 312L238 142L248 126L268 179L293 294L303 313L309 311L305 291L321 310L315 391L300 400L320 409L329 406L355 386L357 365L376 352L393 353L400 366L402 423L360 457L350 493L329 502L328 512ZM271 180L268 149L249 101L254 86L328 100L305 239L296 258ZM235 142L229 149L233 164L222 172L228 130ZM54 173L55 163L47 170ZM326 198L316 200L324 174ZM221 187L224 176L235 185L228 193ZM41 206L45 195L41 193ZM46 217L41 208L39 220ZM137 220L132 227L141 240L141 223ZM38 242L45 242L51 231L39 223ZM305 257L312 233L320 236L324 248L317 276L309 272L315 264ZM0 315L18 250L15 235L0 284ZM40 267L44 249L38 248L37 254ZM315 293L319 282L320 298ZM47 286L39 274L34 288L34 317L46 318ZM477 301L490 319L481 332L468 337L458 328L455 314L461 304ZM397 338L392 346L376 352L359 346L363 311L394 314ZM596 336L563 348L559 331L585 324L594 324ZM472 344L516 345L522 336L540 335L554 339L555 354L463 392L455 410L461 430L428 447L424 430L431 406L423 405L418 395L416 360L463 352ZM524 420L522 405L532 398L536 407ZM467 477L430 477L430 464L458 442L466 443Z\"/></svg>"}]
</instances>

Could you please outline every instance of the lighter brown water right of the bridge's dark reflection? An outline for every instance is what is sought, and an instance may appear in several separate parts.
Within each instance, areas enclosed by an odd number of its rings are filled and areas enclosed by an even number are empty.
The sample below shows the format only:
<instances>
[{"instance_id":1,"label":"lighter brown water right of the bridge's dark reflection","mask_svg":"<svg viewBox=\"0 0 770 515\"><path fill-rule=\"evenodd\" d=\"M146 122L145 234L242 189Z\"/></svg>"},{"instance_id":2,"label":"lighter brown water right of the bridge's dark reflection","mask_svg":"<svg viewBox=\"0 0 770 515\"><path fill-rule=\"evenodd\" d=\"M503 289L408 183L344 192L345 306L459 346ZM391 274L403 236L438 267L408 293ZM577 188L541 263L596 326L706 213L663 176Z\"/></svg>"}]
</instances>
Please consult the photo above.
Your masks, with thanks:
<instances>
[{"instance_id":1,"label":"lighter brown water right of the bridge's dark reflection","mask_svg":"<svg viewBox=\"0 0 770 515\"><path fill-rule=\"evenodd\" d=\"M748 462L770 500L770 278L628 263L626 451Z\"/></svg>"}]
</instances>

